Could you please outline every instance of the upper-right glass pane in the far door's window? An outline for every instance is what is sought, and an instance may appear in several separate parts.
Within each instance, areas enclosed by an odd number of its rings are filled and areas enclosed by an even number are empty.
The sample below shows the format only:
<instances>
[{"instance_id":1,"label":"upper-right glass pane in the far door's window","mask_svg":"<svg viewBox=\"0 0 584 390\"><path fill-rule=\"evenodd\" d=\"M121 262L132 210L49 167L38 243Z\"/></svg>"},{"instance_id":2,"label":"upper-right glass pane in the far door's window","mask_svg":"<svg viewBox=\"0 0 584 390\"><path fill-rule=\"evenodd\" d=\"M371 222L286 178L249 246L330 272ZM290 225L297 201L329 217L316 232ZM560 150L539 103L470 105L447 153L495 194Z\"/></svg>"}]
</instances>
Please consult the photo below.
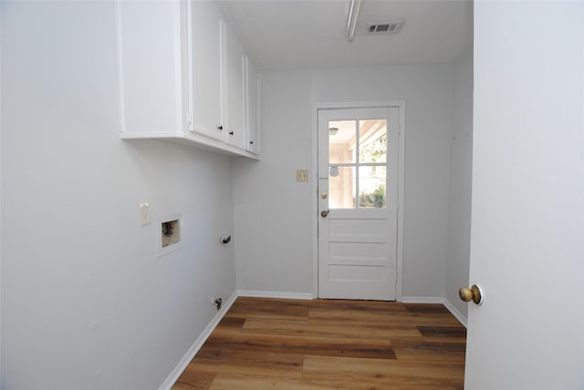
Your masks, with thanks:
<instances>
[{"instance_id":1,"label":"upper-right glass pane in the far door's window","mask_svg":"<svg viewBox=\"0 0 584 390\"><path fill-rule=\"evenodd\" d=\"M359 121L359 162L387 160L387 119Z\"/></svg>"}]
</instances>

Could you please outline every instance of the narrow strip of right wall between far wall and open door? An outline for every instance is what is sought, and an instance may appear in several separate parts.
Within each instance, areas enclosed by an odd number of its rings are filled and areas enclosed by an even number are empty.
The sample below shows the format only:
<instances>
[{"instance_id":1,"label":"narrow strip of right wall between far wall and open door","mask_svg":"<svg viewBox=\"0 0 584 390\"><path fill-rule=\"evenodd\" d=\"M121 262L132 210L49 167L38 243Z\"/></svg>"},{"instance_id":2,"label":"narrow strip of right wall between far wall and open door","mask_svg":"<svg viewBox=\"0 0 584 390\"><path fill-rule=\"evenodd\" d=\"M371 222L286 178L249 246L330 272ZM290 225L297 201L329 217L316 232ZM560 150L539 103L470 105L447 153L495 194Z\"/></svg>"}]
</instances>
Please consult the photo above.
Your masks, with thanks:
<instances>
[{"instance_id":1,"label":"narrow strip of right wall between far wall and open door","mask_svg":"<svg viewBox=\"0 0 584 390\"><path fill-rule=\"evenodd\" d=\"M473 51L454 62L453 128L450 142L450 206L445 298L466 317L458 289L468 283L473 167Z\"/></svg>"}]
</instances>

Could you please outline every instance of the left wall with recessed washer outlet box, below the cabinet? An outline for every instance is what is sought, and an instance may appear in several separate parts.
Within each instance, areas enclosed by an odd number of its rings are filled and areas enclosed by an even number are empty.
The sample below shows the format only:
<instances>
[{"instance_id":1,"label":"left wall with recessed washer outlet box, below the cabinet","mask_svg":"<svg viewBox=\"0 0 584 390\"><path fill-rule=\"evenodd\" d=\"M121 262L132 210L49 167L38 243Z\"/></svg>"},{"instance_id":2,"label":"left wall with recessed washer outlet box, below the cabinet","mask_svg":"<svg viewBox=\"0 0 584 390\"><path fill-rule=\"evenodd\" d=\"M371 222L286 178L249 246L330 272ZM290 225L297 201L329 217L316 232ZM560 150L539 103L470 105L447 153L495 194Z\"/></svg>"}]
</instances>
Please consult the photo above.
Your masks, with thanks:
<instances>
[{"instance_id":1,"label":"left wall with recessed washer outlet box, below the cabinet","mask_svg":"<svg viewBox=\"0 0 584 390\"><path fill-rule=\"evenodd\" d=\"M2 2L2 387L155 389L235 292L231 161L122 141L112 2ZM182 212L185 248L157 258Z\"/></svg>"}]
</instances>

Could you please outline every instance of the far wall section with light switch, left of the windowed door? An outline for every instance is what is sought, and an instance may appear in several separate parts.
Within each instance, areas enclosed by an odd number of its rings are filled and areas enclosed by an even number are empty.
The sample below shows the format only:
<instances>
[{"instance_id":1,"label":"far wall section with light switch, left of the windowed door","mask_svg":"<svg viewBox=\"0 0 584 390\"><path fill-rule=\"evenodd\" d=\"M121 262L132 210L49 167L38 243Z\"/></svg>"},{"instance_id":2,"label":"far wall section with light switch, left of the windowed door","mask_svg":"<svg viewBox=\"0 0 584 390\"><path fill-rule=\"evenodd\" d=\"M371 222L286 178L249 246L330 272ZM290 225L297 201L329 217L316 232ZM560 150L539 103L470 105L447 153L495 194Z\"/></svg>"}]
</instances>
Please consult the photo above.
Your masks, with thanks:
<instances>
[{"instance_id":1,"label":"far wall section with light switch, left of the windowed door","mask_svg":"<svg viewBox=\"0 0 584 390\"><path fill-rule=\"evenodd\" d=\"M263 76L261 161L234 159L237 288L312 293L311 76Z\"/></svg>"}]
</instances>

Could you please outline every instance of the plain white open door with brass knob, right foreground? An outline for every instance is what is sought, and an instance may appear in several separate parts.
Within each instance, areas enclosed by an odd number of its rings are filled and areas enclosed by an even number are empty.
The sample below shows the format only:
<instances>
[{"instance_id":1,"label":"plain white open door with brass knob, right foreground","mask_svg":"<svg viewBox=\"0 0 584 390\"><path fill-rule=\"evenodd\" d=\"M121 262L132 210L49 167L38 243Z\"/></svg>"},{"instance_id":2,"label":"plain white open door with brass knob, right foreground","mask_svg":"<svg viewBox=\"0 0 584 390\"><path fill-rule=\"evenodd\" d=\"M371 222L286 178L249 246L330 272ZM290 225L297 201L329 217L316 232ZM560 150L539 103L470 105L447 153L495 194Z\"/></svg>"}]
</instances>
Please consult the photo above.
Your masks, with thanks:
<instances>
[{"instance_id":1,"label":"plain white open door with brass knob, right foreground","mask_svg":"<svg viewBox=\"0 0 584 390\"><path fill-rule=\"evenodd\" d=\"M583 2L474 2L467 390L584 388L583 21Z\"/></svg>"}]
</instances>

